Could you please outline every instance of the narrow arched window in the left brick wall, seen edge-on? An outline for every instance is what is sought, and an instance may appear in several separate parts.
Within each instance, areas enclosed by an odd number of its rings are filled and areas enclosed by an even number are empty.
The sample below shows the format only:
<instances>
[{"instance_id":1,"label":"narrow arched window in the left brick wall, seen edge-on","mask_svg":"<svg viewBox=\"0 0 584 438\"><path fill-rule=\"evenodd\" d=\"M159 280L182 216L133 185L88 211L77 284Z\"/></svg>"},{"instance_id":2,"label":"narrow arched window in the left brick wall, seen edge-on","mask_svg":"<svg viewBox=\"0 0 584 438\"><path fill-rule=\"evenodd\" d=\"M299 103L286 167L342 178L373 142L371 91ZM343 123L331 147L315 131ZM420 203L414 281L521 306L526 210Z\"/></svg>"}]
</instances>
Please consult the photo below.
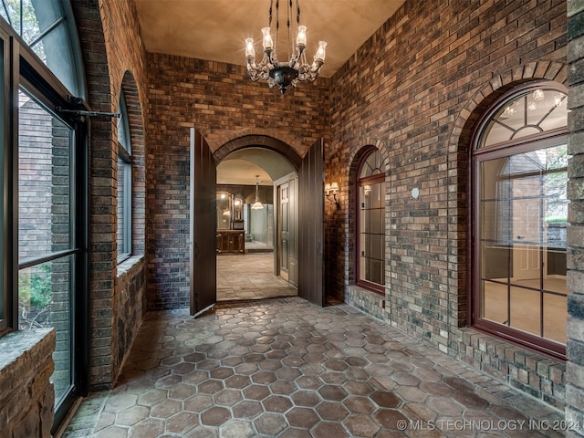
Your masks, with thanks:
<instances>
[{"instance_id":1,"label":"narrow arched window in the left brick wall, seen edge-on","mask_svg":"<svg viewBox=\"0 0 584 438\"><path fill-rule=\"evenodd\" d=\"M120 93L118 120L118 262L131 255L131 143L128 109Z\"/></svg>"}]
</instances>

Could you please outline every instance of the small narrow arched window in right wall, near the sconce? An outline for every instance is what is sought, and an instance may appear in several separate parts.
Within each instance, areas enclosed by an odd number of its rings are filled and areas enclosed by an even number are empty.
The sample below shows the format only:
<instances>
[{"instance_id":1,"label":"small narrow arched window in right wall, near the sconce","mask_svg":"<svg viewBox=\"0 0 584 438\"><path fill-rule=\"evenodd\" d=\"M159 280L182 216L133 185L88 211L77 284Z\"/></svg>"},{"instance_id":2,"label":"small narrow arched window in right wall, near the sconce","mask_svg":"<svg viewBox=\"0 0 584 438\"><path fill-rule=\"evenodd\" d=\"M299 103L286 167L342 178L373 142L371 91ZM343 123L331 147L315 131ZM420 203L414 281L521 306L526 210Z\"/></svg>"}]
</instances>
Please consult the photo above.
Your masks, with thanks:
<instances>
[{"instance_id":1,"label":"small narrow arched window in right wall, near the sconce","mask_svg":"<svg viewBox=\"0 0 584 438\"><path fill-rule=\"evenodd\" d=\"M385 290L385 163L375 148L357 172L357 285Z\"/></svg>"}]
</instances>

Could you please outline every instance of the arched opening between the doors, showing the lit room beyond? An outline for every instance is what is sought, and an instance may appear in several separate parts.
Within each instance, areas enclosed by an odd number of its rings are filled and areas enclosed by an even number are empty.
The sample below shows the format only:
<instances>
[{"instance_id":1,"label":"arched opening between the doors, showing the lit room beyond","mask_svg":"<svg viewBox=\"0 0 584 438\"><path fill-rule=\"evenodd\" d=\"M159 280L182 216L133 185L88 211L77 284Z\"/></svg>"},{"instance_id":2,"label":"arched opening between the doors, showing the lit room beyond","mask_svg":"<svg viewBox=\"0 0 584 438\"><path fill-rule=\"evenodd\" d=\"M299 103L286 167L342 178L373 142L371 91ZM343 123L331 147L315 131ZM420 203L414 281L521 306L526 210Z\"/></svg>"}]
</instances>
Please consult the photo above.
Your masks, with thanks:
<instances>
[{"instance_id":1,"label":"arched opening between the doors, showing the lit room beyond","mask_svg":"<svg viewBox=\"0 0 584 438\"><path fill-rule=\"evenodd\" d=\"M277 141L246 140L217 163L219 302L297 295L296 160Z\"/></svg>"}]
</instances>

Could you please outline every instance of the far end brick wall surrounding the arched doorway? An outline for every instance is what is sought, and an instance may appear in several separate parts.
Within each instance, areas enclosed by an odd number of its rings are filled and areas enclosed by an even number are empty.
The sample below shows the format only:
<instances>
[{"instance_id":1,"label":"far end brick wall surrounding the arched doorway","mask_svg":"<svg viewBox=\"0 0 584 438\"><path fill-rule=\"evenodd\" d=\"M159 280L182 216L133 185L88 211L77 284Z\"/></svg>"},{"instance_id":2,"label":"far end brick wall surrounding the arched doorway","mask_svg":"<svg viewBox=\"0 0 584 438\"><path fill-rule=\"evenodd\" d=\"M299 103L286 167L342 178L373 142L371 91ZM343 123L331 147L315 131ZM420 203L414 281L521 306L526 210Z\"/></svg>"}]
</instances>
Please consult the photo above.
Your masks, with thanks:
<instances>
[{"instance_id":1,"label":"far end brick wall surrounding the arched doorway","mask_svg":"<svg viewBox=\"0 0 584 438\"><path fill-rule=\"evenodd\" d=\"M300 156L328 138L328 80L281 96L241 65L148 55L148 307L189 306L189 130L215 156L245 136L276 139ZM268 141L269 142L269 141ZM251 145L251 144L250 144ZM223 148L223 149L222 149Z\"/></svg>"}]
</instances>

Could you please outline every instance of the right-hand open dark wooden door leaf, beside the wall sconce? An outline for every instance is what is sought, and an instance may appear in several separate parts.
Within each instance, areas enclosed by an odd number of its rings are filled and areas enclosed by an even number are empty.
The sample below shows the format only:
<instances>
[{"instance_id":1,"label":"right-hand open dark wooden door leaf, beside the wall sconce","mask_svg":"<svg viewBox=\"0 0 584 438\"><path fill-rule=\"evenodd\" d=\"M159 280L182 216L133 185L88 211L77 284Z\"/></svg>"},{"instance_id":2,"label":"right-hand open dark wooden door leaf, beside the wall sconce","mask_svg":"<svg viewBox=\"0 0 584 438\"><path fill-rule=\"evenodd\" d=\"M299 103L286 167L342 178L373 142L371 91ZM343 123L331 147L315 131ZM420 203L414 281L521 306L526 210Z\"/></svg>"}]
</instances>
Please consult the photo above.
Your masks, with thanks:
<instances>
[{"instance_id":1,"label":"right-hand open dark wooden door leaf, beside the wall sconce","mask_svg":"<svg viewBox=\"0 0 584 438\"><path fill-rule=\"evenodd\" d=\"M324 306L324 141L310 148L298 174L298 296Z\"/></svg>"}]
</instances>

